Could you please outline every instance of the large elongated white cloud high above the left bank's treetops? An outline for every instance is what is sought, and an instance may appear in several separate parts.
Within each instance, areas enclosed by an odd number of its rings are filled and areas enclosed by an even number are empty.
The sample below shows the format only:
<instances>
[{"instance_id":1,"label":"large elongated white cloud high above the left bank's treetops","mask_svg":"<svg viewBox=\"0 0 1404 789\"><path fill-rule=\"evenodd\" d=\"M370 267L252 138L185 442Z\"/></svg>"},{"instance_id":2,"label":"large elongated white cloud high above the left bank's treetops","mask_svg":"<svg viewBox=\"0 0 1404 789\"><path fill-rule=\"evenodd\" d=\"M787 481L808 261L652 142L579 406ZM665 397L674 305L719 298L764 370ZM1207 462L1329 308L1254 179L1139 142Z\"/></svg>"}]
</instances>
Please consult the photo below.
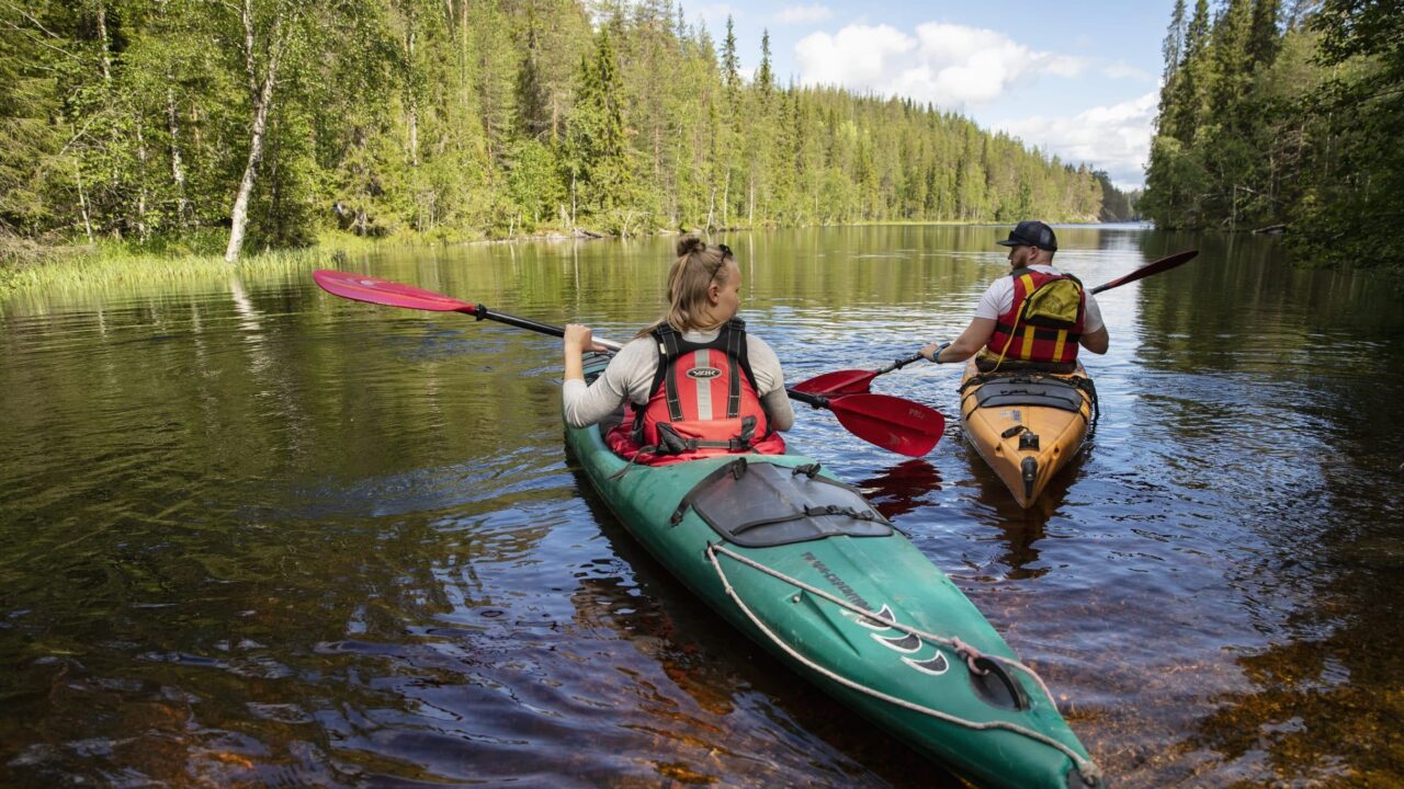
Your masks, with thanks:
<instances>
[{"instance_id":1,"label":"large elongated white cloud high above the left bank's treetops","mask_svg":"<svg viewBox=\"0 0 1404 789\"><path fill-rule=\"evenodd\" d=\"M845 25L795 45L804 84L838 84L904 95L952 110L987 104L1038 74L1074 77L1087 60L1035 52L991 29L924 22L915 35L892 25Z\"/></svg>"}]
</instances>

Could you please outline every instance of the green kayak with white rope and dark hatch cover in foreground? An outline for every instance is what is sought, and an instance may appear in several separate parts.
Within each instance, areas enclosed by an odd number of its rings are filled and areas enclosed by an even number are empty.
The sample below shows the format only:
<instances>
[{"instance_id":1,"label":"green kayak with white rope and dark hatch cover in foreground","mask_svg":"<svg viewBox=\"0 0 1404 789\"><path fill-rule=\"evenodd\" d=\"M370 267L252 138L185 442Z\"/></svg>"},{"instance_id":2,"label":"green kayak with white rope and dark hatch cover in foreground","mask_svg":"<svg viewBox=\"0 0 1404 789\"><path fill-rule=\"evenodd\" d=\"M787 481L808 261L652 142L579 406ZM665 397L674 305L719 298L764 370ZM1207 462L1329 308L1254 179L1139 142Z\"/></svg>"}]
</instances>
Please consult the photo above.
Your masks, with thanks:
<instances>
[{"instance_id":1,"label":"green kayak with white rope and dark hatch cover in foreground","mask_svg":"<svg viewBox=\"0 0 1404 789\"><path fill-rule=\"evenodd\" d=\"M605 355L585 358L592 379ZM625 528L715 611L979 786L1101 786L1042 681L852 487L800 455L629 466L567 428Z\"/></svg>"}]
</instances>

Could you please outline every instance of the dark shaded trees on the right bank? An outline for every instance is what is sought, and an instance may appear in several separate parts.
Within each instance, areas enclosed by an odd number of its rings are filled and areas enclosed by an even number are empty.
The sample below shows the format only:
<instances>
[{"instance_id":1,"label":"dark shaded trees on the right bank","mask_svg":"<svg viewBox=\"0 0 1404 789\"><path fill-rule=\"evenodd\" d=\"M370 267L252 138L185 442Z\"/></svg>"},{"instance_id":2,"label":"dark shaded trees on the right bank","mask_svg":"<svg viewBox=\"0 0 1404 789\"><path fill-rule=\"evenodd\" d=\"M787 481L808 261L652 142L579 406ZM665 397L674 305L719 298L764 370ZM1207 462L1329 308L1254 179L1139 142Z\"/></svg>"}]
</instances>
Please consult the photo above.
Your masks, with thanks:
<instances>
[{"instance_id":1,"label":"dark shaded trees on the right bank","mask_svg":"<svg viewBox=\"0 0 1404 789\"><path fill-rule=\"evenodd\" d=\"M1400 265L1404 3L1177 0L1164 55L1148 219L1282 232L1309 263Z\"/></svg>"}]
</instances>

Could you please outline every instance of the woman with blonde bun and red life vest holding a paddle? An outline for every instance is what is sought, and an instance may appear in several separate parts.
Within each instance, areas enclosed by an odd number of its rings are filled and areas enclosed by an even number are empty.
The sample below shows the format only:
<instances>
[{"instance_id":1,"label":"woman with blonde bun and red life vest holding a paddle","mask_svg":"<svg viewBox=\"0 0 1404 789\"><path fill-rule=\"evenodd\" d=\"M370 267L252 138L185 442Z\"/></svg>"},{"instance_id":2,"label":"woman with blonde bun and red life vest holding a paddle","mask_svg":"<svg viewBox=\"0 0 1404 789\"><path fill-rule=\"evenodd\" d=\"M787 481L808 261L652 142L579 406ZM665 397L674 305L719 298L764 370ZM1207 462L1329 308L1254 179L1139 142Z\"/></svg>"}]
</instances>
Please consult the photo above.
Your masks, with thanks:
<instances>
[{"instance_id":1,"label":"woman with blonde bun and red life vest holding a paddle","mask_svg":"<svg viewBox=\"0 0 1404 789\"><path fill-rule=\"evenodd\" d=\"M741 268L731 250L682 237L668 271L668 312L588 386L581 355L605 348L590 327L566 326L566 424L598 424L626 404L623 421L605 441L640 463L783 453L776 431L795 424L785 372L775 351L746 333L746 321L736 317L740 307Z\"/></svg>"}]
</instances>

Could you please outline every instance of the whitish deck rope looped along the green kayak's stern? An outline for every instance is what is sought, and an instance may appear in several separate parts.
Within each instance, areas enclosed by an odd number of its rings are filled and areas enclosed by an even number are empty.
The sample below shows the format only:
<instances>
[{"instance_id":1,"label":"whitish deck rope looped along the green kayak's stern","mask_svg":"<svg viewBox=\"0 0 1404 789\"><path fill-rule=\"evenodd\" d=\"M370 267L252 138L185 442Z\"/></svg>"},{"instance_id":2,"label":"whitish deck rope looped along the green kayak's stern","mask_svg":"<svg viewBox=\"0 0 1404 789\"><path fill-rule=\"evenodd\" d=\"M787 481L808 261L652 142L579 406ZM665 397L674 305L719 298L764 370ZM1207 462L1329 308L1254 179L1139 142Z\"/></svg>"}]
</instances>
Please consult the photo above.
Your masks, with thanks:
<instances>
[{"instance_id":1,"label":"whitish deck rope looped along the green kayak's stern","mask_svg":"<svg viewBox=\"0 0 1404 789\"><path fill-rule=\"evenodd\" d=\"M1094 786L1098 785L1098 783L1101 783L1102 774L1101 774L1101 771L1097 768L1097 765L1092 761L1090 761L1088 758L1082 757L1082 754L1077 752L1075 750L1073 750L1066 743L1063 743L1060 740L1054 740L1053 737L1049 737L1047 734L1043 734L1042 731L1035 731L1032 729L1026 729L1024 726L1019 726L1018 723L1009 723L1009 722L1005 722L1005 720L987 720L987 722L966 720L963 717L951 715L948 712L941 712L938 709L931 709L928 706L922 706L922 705L918 705L915 702L910 702L907 699L885 694L885 692L882 692L882 691L879 691L876 688L869 688L868 685L863 685L863 684L861 684L858 681L849 679L848 677L844 677L842 674L838 674L835 671L824 668L823 665L819 665L817 663L814 663L810 658L804 657L803 654L800 654L799 651L796 651L792 646L789 646L788 643L785 643L783 639L781 639L779 636L776 636L769 628L767 628L765 623L761 622L761 619L750 609L750 606L746 605L746 602L741 599L741 597L739 594L736 594L736 590L731 588L730 578L726 577L726 571L722 569L722 563L717 562L717 555L719 553L723 555L723 556L727 556L727 557L730 557L730 559L733 559L733 560L736 560L736 562L739 562L741 564L746 564L748 567L760 570L761 573L765 573L767 576L779 578L779 580L785 581L786 584L790 584L790 585L793 585L793 587L796 587L799 590L803 590L803 591L810 592L813 595L821 597L821 598L824 598L824 599L827 599L827 601L830 601L830 602L833 602L833 604L835 604L835 605L838 605L841 608L847 608L848 611L852 611L854 614L858 614L858 615L862 615L862 616L865 616L868 619L872 619L873 622L883 622L885 625L890 625L890 626L893 626L893 628L896 628L899 630L903 630L903 632L910 633L913 636L917 636L920 639L935 642L938 644L942 644L942 646L951 647L953 650L958 650L962 656L969 656L969 653L973 651L973 647L970 647L969 644L965 644L959 639L948 639L948 637L943 637L943 636L938 636L935 633L925 633L925 632L918 630L915 628L911 628L908 625L901 625L900 622L893 622L890 619L879 616L878 614L875 614L872 611L863 611L861 606L856 606L856 605L848 602L847 599L834 597L834 595L831 595L831 594L828 594L828 592L826 592L823 590L819 590L816 587L812 587L810 584L806 584L804 581L800 581L799 578L792 578L792 577L786 576L785 573L781 573L779 570L775 570L772 567L767 567L765 564L761 564L758 562L747 559L746 556L741 556L741 555L739 555L739 553L736 553L733 550L729 550L726 546L723 546L720 543L709 543L708 549L706 549L708 560L712 562L712 567L716 569L716 576L717 576L717 578L722 580L722 585L726 590L727 597L730 597L736 602L736 605L741 609L743 614L746 614L746 616L751 621L751 623L754 623L762 633L765 633L765 636L768 639L771 639L771 642L774 642L775 646L778 646L782 650L785 650L786 654L789 654L790 657L793 657L795 660L797 660L802 665L804 665L810 671L821 674L823 677L826 677L828 679L833 679L834 682L838 682L840 685L844 685L845 688L858 691L861 694L865 694L865 695L869 695L869 696L872 696L875 699L880 699L880 701L885 701L887 703L900 706L903 709L908 709L911 712L917 712L917 713L921 713L921 715L925 715L925 716L929 716L929 717L935 717L936 720L943 720L946 723L953 723L956 726L962 726L962 727L972 729L972 730L976 730L976 731L984 731L984 730L990 730L990 729L1002 729L1005 731L1012 731L1015 734L1028 737L1029 740L1033 740L1036 743L1042 743L1045 745L1049 745L1050 748L1061 751L1064 755L1067 755L1067 758L1073 760L1073 764L1077 767L1077 771L1082 775L1082 778L1088 783L1091 783ZM1018 670L1029 674L1031 677L1033 677L1033 679L1039 684L1039 688L1043 691L1043 695L1047 696L1049 702L1052 702L1054 706L1057 706L1057 703L1053 702L1052 694L1049 694L1047 685L1043 684L1043 679L1032 668L1029 668L1028 665L1024 665L1022 663L1019 663L1016 660L1009 660L1007 657L1000 657L1000 656L984 656L984 657L988 657L991 660L998 660L1000 663L1004 663L1007 665L1018 668Z\"/></svg>"}]
</instances>

